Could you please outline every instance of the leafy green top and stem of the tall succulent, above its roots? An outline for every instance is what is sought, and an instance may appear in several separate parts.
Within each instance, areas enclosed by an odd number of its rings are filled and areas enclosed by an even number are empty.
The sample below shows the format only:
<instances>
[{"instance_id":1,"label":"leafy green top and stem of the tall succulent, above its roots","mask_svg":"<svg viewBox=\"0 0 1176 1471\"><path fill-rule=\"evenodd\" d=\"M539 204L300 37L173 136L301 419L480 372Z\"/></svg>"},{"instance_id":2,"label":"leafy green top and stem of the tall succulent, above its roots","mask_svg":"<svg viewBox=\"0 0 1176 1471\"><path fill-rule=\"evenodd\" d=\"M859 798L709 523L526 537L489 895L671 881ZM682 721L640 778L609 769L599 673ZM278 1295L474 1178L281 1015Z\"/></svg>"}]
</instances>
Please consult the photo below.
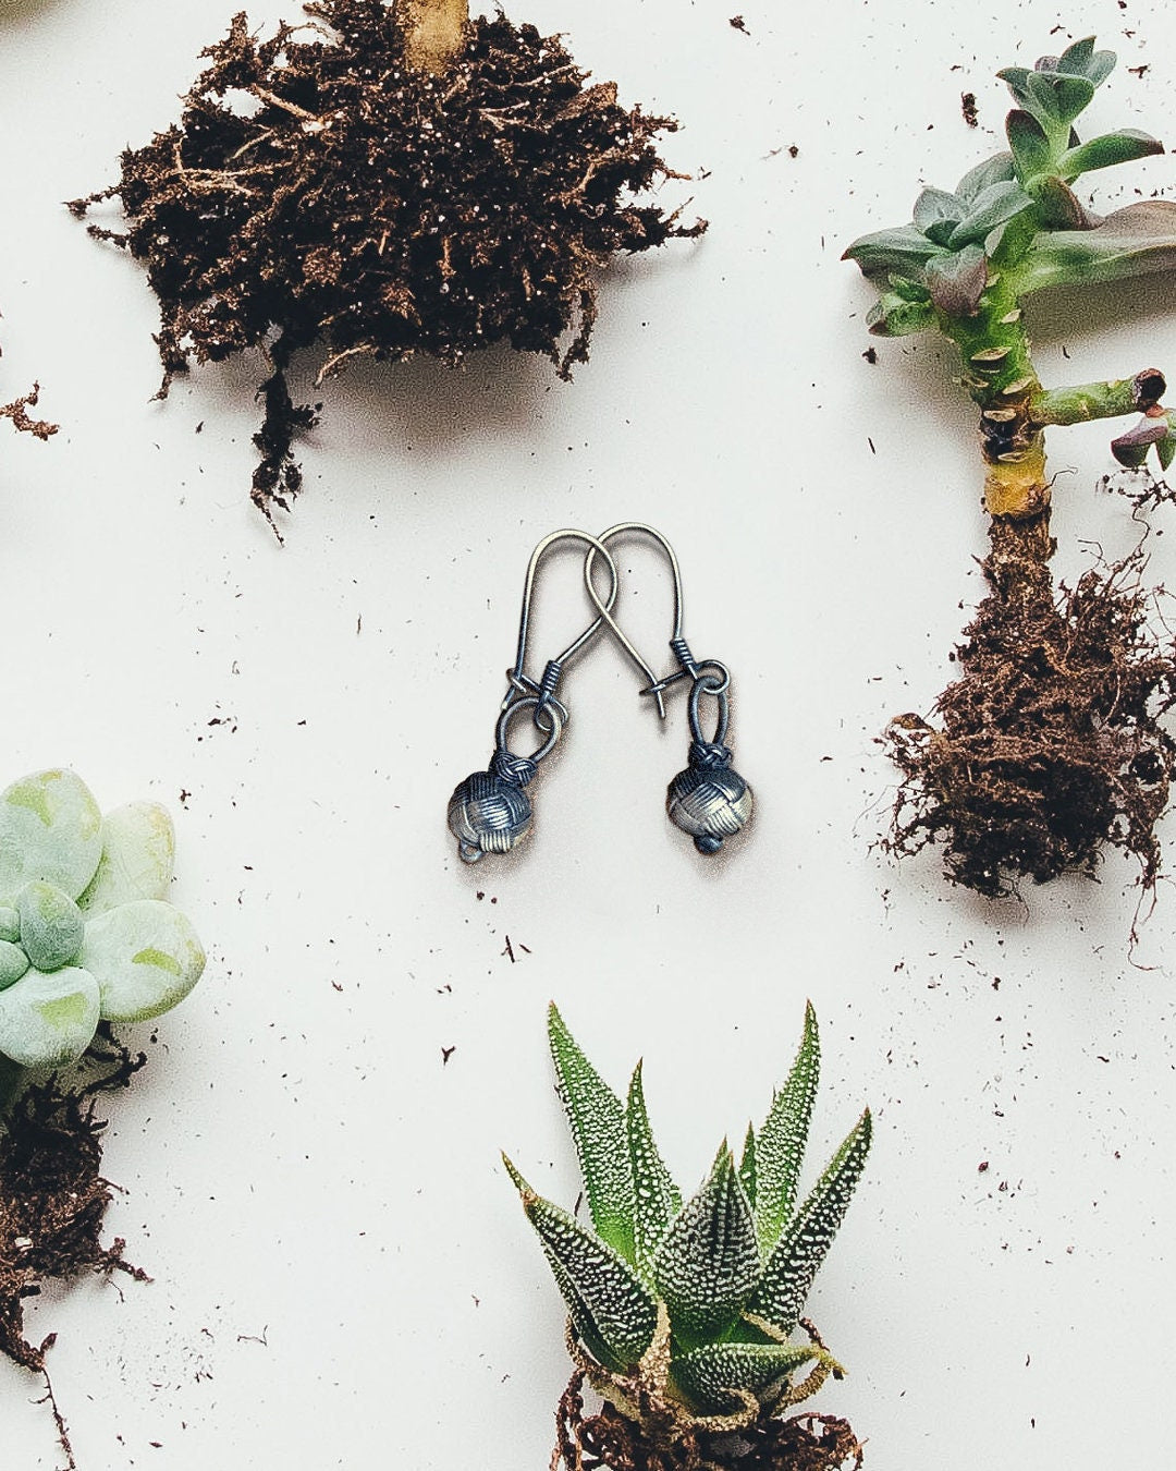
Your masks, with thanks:
<instances>
[{"instance_id":1,"label":"leafy green top and stem of the tall succulent, above its roots","mask_svg":"<svg viewBox=\"0 0 1176 1471\"><path fill-rule=\"evenodd\" d=\"M1119 457L1141 465L1154 444L1166 469L1176 455L1172 419L1158 406L1164 380L1154 369L1045 390L1029 357L1026 297L1176 269L1175 203L1141 200L1101 218L1073 191L1083 174L1164 152L1133 128L1079 138L1075 122L1116 65L1113 51L1094 46L1086 37L1032 71L998 72L1017 103L1005 119L1008 150L969 169L951 191L925 188L908 225L861 235L845 252L882 287L872 332L938 328L958 346L964 387L982 410L992 515L1048 505L1048 425L1144 410L1145 422L1116 441Z\"/></svg>"}]
</instances>

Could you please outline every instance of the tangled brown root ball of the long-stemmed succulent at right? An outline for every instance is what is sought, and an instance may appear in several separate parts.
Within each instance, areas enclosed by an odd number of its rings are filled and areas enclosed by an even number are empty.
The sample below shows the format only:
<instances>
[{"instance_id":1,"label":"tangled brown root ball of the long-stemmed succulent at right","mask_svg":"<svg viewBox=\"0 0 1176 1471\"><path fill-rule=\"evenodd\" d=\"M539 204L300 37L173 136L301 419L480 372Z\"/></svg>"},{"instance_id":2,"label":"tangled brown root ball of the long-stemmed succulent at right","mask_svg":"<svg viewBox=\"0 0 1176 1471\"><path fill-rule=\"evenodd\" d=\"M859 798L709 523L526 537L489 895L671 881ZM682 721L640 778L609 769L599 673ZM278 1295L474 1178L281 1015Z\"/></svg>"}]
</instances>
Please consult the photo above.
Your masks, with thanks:
<instances>
[{"instance_id":1,"label":"tangled brown root ball of the long-stemmed succulent at right","mask_svg":"<svg viewBox=\"0 0 1176 1471\"><path fill-rule=\"evenodd\" d=\"M991 593L957 649L938 724L901 715L885 736L903 772L888 847L945 844L947 874L982 894L1092 874L1104 844L1152 888L1154 827L1176 772L1158 724L1176 660L1150 622L1142 553L1054 593L1048 516L992 524Z\"/></svg>"}]
</instances>

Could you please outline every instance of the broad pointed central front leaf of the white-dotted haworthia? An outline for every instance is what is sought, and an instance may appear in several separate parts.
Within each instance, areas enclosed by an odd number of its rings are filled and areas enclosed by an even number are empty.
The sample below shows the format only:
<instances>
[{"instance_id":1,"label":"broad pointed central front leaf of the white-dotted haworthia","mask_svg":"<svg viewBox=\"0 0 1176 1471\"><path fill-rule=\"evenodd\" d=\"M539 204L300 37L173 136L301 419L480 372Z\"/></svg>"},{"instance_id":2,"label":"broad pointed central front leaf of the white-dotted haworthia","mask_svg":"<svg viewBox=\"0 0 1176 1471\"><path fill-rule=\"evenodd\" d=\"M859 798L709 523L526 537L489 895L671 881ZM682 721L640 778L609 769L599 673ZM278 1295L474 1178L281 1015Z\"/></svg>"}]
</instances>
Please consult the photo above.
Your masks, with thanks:
<instances>
[{"instance_id":1,"label":"broad pointed central front leaf of the white-dotted haworthia","mask_svg":"<svg viewBox=\"0 0 1176 1471\"><path fill-rule=\"evenodd\" d=\"M738 1319L760 1277L756 1222L726 1144L675 1218L654 1258L657 1294L675 1342L695 1347Z\"/></svg>"}]
</instances>

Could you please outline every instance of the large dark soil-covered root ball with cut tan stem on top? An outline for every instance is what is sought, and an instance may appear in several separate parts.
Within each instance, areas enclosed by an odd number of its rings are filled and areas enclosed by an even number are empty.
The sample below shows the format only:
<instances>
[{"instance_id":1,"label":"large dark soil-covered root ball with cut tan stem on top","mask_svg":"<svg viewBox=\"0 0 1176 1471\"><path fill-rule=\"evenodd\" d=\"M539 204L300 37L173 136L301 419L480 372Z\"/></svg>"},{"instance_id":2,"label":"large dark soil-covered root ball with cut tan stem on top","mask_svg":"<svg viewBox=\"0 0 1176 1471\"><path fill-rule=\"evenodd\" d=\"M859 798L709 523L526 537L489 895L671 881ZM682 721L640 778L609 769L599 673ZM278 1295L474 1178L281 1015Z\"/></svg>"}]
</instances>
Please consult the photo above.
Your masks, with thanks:
<instances>
[{"instance_id":1,"label":"large dark soil-covered root ball with cut tan stem on top","mask_svg":"<svg viewBox=\"0 0 1176 1471\"><path fill-rule=\"evenodd\" d=\"M619 252L706 225L647 196L669 118L623 107L559 37L467 0L315 0L268 40L243 13L203 56L178 125L122 154L126 228L159 297L166 396L193 362L260 349L268 372L253 499L273 518L301 485L295 435L319 382L356 357L457 365L507 343L562 378L588 357L597 278Z\"/></svg>"}]
</instances>

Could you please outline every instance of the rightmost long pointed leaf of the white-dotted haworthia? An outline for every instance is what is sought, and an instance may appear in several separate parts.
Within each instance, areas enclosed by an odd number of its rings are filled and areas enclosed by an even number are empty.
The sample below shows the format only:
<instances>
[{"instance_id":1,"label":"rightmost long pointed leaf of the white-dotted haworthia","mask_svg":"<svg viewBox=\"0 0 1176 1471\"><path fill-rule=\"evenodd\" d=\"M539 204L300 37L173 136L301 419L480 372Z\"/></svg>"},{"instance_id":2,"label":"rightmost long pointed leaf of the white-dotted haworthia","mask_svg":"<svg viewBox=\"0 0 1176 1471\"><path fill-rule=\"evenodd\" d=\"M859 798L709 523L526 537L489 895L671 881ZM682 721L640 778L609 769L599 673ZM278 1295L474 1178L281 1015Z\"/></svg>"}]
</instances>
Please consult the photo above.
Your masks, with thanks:
<instances>
[{"instance_id":1,"label":"rightmost long pointed leaf of the white-dotted haworthia","mask_svg":"<svg viewBox=\"0 0 1176 1471\"><path fill-rule=\"evenodd\" d=\"M861 1115L817 1180L763 1269L750 1309L784 1334L795 1328L817 1268L841 1225L870 1147L870 1112Z\"/></svg>"}]
</instances>

